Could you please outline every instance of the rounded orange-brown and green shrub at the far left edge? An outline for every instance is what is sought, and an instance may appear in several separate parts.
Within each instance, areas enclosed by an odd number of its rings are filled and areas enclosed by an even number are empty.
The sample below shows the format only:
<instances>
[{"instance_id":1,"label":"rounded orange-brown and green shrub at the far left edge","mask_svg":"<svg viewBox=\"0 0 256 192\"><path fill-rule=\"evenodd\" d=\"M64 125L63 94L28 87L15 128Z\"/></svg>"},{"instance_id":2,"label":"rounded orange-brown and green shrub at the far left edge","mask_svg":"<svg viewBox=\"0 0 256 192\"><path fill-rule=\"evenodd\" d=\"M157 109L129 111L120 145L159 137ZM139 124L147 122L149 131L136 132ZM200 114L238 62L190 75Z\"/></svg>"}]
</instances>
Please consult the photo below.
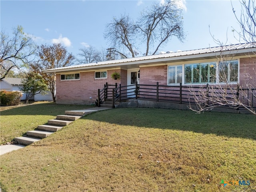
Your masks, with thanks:
<instances>
[{"instance_id":1,"label":"rounded orange-brown and green shrub at the far left edge","mask_svg":"<svg viewBox=\"0 0 256 192\"><path fill-rule=\"evenodd\" d=\"M0 92L0 102L2 105L18 105L22 97L19 91L6 91Z\"/></svg>"}]
</instances>

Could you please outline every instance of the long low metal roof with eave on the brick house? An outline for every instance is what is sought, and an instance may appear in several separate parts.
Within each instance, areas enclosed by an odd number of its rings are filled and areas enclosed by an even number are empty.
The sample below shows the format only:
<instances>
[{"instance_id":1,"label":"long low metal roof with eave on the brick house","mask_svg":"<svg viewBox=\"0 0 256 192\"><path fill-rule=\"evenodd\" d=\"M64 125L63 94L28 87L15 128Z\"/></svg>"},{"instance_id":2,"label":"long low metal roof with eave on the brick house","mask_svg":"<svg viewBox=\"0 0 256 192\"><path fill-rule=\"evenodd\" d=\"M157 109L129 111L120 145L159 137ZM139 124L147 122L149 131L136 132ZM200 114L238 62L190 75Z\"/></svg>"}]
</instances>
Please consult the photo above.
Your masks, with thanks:
<instances>
[{"instance_id":1,"label":"long low metal roof with eave on the brick house","mask_svg":"<svg viewBox=\"0 0 256 192\"><path fill-rule=\"evenodd\" d=\"M165 54L134 57L120 60L110 60L104 62L95 62L89 64L73 65L61 68L43 70L45 73L70 72L78 70L97 70L100 68L108 69L113 67L120 68L139 68L140 65L163 64L168 62L189 61L198 59L216 58L222 55L244 56L250 52L256 52L256 43L234 44L227 46L218 46L212 48L203 48L197 50L169 52Z\"/></svg>"}]
</instances>

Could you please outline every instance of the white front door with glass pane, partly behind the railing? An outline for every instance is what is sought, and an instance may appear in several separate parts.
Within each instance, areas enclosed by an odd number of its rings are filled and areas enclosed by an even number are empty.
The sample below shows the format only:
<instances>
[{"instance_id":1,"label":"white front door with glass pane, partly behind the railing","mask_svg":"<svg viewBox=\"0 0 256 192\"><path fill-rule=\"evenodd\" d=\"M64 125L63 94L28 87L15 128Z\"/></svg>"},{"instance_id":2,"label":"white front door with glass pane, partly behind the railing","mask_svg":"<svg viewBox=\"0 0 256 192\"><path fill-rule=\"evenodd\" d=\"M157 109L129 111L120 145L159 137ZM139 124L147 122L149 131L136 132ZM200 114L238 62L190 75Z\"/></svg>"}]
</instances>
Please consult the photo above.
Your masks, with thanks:
<instances>
[{"instance_id":1,"label":"white front door with glass pane, partly behind the railing","mask_svg":"<svg viewBox=\"0 0 256 192\"><path fill-rule=\"evenodd\" d=\"M140 78L139 78L139 70L140 69L130 69L127 70L127 97L134 97L134 91L136 88L136 82L140 84Z\"/></svg>"}]
</instances>

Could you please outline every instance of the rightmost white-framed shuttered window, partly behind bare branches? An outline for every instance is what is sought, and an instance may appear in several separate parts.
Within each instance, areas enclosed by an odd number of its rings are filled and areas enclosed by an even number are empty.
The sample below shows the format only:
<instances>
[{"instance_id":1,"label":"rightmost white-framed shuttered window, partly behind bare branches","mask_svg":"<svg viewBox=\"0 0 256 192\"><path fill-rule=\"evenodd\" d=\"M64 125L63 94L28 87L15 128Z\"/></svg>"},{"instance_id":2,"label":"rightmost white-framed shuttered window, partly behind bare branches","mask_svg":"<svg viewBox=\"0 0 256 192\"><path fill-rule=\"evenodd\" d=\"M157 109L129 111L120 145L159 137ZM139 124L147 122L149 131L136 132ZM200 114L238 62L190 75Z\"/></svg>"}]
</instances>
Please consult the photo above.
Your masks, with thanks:
<instances>
[{"instance_id":1,"label":"rightmost white-framed shuttered window, partly behind bare branches","mask_svg":"<svg viewBox=\"0 0 256 192\"><path fill-rule=\"evenodd\" d=\"M219 82L238 82L238 60L219 63Z\"/></svg>"}]
</instances>

